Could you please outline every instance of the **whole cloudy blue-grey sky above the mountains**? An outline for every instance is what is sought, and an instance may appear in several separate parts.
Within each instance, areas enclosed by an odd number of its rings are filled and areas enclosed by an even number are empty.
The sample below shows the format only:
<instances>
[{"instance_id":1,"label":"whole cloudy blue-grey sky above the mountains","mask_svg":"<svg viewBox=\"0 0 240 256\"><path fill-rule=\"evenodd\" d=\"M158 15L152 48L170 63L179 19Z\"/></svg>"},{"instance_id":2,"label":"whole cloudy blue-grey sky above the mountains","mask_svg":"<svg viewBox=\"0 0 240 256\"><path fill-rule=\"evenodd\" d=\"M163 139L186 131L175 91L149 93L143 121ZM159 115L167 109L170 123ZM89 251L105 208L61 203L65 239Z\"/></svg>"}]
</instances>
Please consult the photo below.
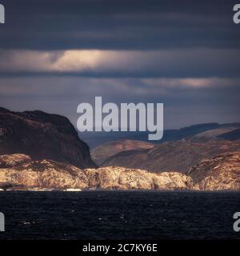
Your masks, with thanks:
<instances>
[{"instance_id":1,"label":"whole cloudy blue-grey sky above the mountains","mask_svg":"<svg viewBox=\"0 0 240 256\"><path fill-rule=\"evenodd\" d=\"M0 0L0 106L163 102L165 129L240 122L240 24L231 0Z\"/></svg>"}]
</instances>

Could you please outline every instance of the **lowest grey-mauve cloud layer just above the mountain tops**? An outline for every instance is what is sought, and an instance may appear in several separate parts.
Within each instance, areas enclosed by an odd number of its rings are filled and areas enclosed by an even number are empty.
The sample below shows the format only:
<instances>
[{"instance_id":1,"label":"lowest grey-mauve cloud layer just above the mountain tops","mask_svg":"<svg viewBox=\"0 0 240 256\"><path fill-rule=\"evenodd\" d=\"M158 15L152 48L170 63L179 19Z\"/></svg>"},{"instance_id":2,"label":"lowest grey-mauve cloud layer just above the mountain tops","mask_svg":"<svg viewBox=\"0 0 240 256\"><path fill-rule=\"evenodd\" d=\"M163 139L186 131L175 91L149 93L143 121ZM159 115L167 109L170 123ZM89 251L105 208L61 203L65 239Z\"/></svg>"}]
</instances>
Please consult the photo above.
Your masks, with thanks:
<instances>
[{"instance_id":1,"label":"lowest grey-mauve cloud layer just above the mountain tops","mask_svg":"<svg viewBox=\"0 0 240 256\"><path fill-rule=\"evenodd\" d=\"M0 102L11 110L64 114L76 125L77 106L103 102L163 102L166 128L237 122L239 79L231 78L1 78Z\"/></svg>"}]
</instances>

